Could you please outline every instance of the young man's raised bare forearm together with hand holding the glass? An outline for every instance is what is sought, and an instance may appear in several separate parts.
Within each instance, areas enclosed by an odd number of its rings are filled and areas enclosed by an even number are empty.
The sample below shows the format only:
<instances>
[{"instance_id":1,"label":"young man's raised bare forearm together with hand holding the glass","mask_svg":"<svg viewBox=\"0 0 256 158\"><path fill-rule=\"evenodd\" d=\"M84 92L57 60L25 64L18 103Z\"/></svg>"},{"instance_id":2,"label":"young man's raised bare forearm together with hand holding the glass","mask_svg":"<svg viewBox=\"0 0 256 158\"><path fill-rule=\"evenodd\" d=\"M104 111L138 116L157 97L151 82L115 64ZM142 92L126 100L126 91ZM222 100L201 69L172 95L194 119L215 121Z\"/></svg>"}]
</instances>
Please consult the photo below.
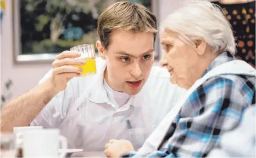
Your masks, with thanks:
<instances>
[{"instance_id":1,"label":"young man's raised bare forearm together with hand holding the glass","mask_svg":"<svg viewBox=\"0 0 256 158\"><path fill-rule=\"evenodd\" d=\"M55 57L52 76L24 95L4 105L1 109L1 131L13 131L13 127L28 126L31 121L73 77L79 77L82 69L75 65L85 65L84 60L77 60L79 52L64 51ZM22 113L21 113L22 111Z\"/></svg>"}]
</instances>

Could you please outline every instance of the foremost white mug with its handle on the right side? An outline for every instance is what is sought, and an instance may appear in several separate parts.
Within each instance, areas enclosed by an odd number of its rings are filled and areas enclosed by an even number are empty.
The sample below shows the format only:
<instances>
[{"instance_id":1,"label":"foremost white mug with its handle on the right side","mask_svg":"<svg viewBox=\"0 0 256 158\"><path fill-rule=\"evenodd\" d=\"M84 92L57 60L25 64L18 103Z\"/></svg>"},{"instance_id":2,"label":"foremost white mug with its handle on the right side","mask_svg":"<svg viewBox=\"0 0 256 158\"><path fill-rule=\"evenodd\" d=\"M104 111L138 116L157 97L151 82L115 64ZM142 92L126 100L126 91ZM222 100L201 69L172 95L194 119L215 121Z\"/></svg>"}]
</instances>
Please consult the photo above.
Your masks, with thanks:
<instances>
[{"instance_id":1,"label":"foremost white mug with its handle on the right side","mask_svg":"<svg viewBox=\"0 0 256 158\"><path fill-rule=\"evenodd\" d=\"M59 129L45 129L23 133L24 157L64 157L66 153L59 153L68 147L68 141L60 136Z\"/></svg>"}]
</instances>

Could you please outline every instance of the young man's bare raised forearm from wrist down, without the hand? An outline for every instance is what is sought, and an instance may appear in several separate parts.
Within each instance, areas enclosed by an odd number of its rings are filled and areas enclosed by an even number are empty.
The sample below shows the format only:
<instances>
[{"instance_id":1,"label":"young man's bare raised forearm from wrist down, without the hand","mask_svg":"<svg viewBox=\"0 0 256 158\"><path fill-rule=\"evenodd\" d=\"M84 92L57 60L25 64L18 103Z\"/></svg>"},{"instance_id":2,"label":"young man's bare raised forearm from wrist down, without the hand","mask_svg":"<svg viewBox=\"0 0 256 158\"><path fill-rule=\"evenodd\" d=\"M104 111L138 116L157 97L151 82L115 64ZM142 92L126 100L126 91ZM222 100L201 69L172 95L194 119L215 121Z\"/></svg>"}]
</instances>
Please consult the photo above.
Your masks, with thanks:
<instances>
[{"instance_id":1,"label":"young man's bare raised forearm from wrist down, without the hand","mask_svg":"<svg viewBox=\"0 0 256 158\"><path fill-rule=\"evenodd\" d=\"M13 131L16 126L29 126L57 93L49 82L37 85L1 109L1 131Z\"/></svg>"}]
</instances>

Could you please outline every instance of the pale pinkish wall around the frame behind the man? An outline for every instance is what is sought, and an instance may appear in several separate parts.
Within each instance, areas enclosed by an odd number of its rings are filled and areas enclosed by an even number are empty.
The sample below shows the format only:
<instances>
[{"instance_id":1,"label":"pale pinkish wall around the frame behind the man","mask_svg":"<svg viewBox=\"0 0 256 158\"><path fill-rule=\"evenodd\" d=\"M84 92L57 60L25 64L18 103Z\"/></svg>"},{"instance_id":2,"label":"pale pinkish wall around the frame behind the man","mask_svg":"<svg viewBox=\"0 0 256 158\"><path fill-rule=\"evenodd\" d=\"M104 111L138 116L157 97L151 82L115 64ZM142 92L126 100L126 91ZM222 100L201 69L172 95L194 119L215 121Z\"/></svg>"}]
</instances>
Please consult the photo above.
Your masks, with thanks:
<instances>
[{"instance_id":1,"label":"pale pinkish wall around the frame behind the man","mask_svg":"<svg viewBox=\"0 0 256 158\"><path fill-rule=\"evenodd\" d=\"M159 1L158 10L159 22L170 14L172 8L176 7L175 0L157 0ZM16 65L13 56L13 30L12 30L12 1L5 1L5 15L1 28L1 90L4 92L4 83L8 79L13 80L11 89L13 97L21 95L32 87L37 85L38 81L51 69L51 63L48 64L23 64ZM15 31L15 30L14 30ZM154 65L158 65L158 61Z\"/></svg>"}]
</instances>

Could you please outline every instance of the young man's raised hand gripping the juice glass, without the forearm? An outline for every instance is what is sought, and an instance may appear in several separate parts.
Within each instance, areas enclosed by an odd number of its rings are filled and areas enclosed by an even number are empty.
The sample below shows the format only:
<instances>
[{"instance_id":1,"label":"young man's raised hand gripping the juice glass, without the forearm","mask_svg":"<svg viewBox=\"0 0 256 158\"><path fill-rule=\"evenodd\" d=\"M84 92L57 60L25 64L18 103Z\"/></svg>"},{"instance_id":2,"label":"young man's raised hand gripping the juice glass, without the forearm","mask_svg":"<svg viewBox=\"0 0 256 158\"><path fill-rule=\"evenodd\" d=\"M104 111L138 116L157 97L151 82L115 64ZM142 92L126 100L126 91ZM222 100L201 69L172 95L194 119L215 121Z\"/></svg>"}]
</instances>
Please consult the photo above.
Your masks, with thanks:
<instances>
[{"instance_id":1,"label":"young man's raised hand gripping the juice glass, without the forearm","mask_svg":"<svg viewBox=\"0 0 256 158\"><path fill-rule=\"evenodd\" d=\"M85 60L75 59L80 56L79 52L63 51L55 57L52 63L52 77L47 80L55 93L64 90L70 79L80 76L83 70L75 67L75 65L85 65Z\"/></svg>"}]
</instances>

